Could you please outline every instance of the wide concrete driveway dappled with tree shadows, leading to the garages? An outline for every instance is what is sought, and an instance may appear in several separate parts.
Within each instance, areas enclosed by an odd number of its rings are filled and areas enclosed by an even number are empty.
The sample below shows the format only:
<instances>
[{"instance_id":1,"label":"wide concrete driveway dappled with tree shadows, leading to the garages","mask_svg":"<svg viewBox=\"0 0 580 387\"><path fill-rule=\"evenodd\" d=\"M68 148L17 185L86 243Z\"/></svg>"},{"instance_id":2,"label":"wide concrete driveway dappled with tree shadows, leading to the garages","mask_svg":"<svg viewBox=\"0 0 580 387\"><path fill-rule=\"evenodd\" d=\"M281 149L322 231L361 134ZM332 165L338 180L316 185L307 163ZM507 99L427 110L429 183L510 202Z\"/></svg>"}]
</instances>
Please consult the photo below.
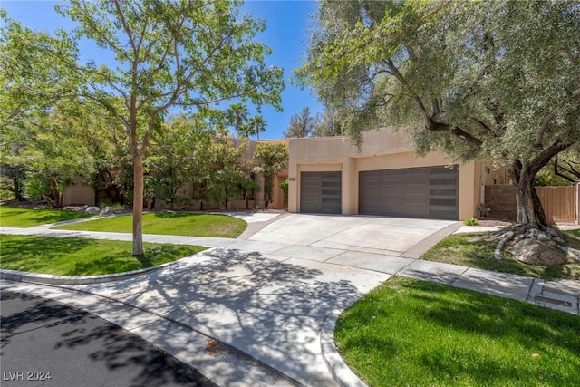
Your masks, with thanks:
<instances>
[{"instance_id":1,"label":"wide concrete driveway dappled with tree shadows, leading to the garages","mask_svg":"<svg viewBox=\"0 0 580 387\"><path fill-rule=\"evenodd\" d=\"M144 236L150 241L214 248L130 279L67 287L191 327L249 354L297 384L333 386L336 382L321 350L320 332L327 317L352 305L395 273L416 270L414 265L420 262L406 257L413 247L458 224L285 214L259 225L264 227L253 225L253 234L245 238ZM63 235L63 231L55 235ZM88 232L82 236L123 237ZM82 303L68 298L73 304ZM63 302L63 298L59 300ZM100 309L102 305L96 305L91 312L99 314ZM190 362L189 339L173 340L163 324L136 324L136 319L124 319L116 310L111 315L103 309L99 315L168 348L169 353L180 353L176 356L180 361L198 366L202 374L219 384L283 385L281 381L250 382L228 374L228 370Z\"/></svg>"}]
</instances>

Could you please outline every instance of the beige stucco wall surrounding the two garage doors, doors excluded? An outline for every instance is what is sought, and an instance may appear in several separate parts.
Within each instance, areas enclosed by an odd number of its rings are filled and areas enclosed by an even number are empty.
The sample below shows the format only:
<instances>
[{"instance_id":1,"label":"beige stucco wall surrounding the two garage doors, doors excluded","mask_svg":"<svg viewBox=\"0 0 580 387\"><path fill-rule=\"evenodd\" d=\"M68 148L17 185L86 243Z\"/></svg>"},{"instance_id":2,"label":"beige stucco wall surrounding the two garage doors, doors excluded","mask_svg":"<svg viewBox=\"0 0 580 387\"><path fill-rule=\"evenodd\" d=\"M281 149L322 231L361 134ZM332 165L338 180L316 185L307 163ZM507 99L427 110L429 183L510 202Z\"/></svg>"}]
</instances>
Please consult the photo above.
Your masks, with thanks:
<instances>
[{"instance_id":1,"label":"beige stucco wall surrounding the two garage doors, doors excluded","mask_svg":"<svg viewBox=\"0 0 580 387\"><path fill-rule=\"evenodd\" d=\"M417 157L392 129L365 132L360 151L344 137L291 139L288 148L290 212L300 212L301 172L342 172L343 214L355 215L359 208L359 172L455 164L440 152ZM478 161L459 166L459 219L477 215L481 179L478 167Z\"/></svg>"}]
</instances>

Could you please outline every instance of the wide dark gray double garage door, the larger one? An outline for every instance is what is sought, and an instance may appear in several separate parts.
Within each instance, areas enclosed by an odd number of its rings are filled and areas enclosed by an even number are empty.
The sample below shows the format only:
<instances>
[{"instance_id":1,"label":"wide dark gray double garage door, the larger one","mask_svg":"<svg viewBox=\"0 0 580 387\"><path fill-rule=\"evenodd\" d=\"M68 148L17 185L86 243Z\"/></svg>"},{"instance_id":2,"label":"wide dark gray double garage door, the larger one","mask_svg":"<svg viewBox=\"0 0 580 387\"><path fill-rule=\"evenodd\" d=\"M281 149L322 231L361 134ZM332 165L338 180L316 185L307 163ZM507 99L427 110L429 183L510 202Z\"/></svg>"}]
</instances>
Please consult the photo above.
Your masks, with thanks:
<instances>
[{"instance_id":1,"label":"wide dark gray double garage door, the larger one","mask_svg":"<svg viewBox=\"0 0 580 387\"><path fill-rule=\"evenodd\" d=\"M457 219L458 168L386 169L360 172L359 213Z\"/></svg>"}]
</instances>

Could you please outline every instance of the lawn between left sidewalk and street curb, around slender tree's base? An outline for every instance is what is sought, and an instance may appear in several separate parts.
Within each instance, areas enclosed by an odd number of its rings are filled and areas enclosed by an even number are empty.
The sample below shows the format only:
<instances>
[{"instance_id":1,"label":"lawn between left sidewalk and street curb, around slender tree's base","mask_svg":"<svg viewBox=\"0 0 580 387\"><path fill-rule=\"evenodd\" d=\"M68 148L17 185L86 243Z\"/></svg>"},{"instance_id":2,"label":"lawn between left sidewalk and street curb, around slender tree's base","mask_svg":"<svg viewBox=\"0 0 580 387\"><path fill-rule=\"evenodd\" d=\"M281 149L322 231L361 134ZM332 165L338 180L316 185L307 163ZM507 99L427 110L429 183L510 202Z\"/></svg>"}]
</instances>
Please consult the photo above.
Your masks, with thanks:
<instances>
[{"instance_id":1,"label":"lawn between left sidewalk and street curb, around slender tree's base","mask_svg":"<svg viewBox=\"0 0 580 387\"><path fill-rule=\"evenodd\" d=\"M0 236L0 268L55 276L96 276L159 266L207 247L144 243L131 256L131 242L73 237Z\"/></svg>"}]
</instances>

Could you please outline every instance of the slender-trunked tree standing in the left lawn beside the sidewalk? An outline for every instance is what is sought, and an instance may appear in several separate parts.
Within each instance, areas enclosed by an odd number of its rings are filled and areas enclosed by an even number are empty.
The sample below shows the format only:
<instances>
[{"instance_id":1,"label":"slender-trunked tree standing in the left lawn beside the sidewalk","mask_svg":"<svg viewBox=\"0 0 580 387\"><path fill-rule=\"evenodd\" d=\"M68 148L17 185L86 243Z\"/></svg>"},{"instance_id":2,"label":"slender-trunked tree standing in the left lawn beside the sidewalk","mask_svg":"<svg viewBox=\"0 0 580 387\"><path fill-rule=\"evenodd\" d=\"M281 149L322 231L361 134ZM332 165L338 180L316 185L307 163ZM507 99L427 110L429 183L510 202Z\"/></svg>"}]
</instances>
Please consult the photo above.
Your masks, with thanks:
<instances>
[{"instance_id":1,"label":"slender-trunked tree standing in the left lawn beside the sidewalk","mask_svg":"<svg viewBox=\"0 0 580 387\"><path fill-rule=\"evenodd\" d=\"M80 25L77 34L115 54L111 66L90 65L87 98L121 121L134 176L132 254L143 254L143 157L172 107L199 120L218 116L218 103L241 100L280 108L282 70L266 67L270 50L252 41L265 26L238 16L239 1L71 0L59 7ZM117 108L111 101L121 98Z\"/></svg>"}]
</instances>

